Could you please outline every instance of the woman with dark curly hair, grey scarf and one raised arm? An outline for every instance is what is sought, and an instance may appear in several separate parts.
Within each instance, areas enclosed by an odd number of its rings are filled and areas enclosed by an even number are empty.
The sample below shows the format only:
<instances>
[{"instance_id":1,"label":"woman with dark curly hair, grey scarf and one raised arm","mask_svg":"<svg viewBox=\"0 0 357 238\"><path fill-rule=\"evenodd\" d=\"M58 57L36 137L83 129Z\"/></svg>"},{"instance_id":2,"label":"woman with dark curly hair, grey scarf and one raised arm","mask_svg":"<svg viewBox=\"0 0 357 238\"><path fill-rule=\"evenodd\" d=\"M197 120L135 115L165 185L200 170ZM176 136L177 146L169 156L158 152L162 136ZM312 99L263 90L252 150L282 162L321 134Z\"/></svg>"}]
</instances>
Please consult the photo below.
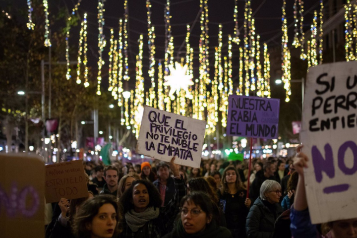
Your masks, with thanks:
<instances>
[{"instance_id":1,"label":"woman with dark curly hair, grey scarf and one raised arm","mask_svg":"<svg viewBox=\"0 0 357 238\"><path fill-rule=\"evenodd\" d=\"M172 228L179 212L179 202L186 195L186 186L179 174L179 165L172 158L170 169L174 174L175 195L167 206L157 188L147 180L133 181L120 197L123 208L123 231L120 238L161 238Z\"/></svg>"}]
</instances>

